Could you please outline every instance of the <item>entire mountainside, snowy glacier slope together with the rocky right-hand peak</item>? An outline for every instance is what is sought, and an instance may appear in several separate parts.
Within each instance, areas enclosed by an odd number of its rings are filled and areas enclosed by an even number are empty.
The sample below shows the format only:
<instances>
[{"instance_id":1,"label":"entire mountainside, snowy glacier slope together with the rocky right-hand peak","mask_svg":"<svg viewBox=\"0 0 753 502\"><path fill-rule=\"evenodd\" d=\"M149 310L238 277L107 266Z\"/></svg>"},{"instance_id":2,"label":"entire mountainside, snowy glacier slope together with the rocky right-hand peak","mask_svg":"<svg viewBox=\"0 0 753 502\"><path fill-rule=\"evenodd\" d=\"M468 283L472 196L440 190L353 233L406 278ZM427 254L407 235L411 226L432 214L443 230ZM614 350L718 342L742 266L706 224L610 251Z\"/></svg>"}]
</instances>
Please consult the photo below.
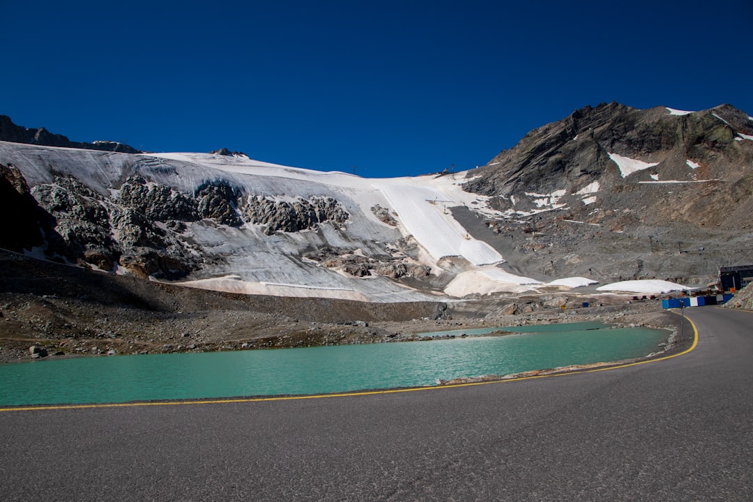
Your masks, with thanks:
<instances>
[{"instance_id":1,"label":"entire mountainside, snowy glacier slope together with the rocky right-hand peak","mask_svg":"<svg viewBox=\"0 0 753 502\"><path fill-rule=\"evenodd\" d=\"M224 149L0 141L13 229L0 247L195 288L371 302L698 287L718 266L753 263L751 140L753 120L729 105L611 103L535 129L478 169L390 179Z\"/></svg>"}]
</instances>

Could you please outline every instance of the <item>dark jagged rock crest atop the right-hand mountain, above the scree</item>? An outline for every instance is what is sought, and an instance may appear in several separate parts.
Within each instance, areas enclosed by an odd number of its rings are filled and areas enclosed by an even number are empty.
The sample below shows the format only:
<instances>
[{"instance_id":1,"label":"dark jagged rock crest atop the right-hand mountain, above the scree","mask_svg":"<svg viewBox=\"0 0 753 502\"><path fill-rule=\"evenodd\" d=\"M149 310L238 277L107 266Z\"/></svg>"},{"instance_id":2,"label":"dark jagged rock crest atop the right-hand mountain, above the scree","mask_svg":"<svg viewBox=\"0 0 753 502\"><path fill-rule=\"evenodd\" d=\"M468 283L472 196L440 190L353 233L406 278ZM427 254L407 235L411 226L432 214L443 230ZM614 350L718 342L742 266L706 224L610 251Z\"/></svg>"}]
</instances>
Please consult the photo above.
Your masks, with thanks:
<instances>
[{"instance_id":1,"label":"dark jagged rock crest atop the right-hand mountain, above the scree","mask_svg":"<svg viewBox=\"0 0 753 502\"><path fill-rule=\"evenodd\" d=\"M603 176L618 183L622 178L608 154L651 163L677 161L679 167L686 159L710 163L720 154L739 163L738 132L753 134L753 120L730 105L684 115L669 114L663 107L638 110L615 102L587 106L529 132L514 148L471 172L473 179L463 187L509 197L563 188L572 193ZM667 167L682 179L692 179L690 169Z\"/></svg>"}]
</instances>

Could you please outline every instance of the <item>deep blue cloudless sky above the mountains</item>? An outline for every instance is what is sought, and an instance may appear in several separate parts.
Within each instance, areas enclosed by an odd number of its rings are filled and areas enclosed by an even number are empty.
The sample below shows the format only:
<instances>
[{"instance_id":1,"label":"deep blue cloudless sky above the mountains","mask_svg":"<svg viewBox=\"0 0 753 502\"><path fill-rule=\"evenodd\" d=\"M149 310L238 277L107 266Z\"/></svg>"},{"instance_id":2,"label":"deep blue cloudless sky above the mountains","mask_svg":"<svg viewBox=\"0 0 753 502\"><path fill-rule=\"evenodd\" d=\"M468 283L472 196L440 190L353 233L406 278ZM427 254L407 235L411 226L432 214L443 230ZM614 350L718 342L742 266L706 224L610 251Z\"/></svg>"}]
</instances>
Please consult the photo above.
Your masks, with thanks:
<instances>
[{"instance_id":1,"label":"deep blue cloudless sky above the mountains","mask_svg":"<svg viewBox=\"0 0 753 502\"><path fill-rule=\"evenodd\" d=\"M0 114L367 177L483 165L585 105L753 114L753 2L0 0Z\"/></svg>"}]
</instances>

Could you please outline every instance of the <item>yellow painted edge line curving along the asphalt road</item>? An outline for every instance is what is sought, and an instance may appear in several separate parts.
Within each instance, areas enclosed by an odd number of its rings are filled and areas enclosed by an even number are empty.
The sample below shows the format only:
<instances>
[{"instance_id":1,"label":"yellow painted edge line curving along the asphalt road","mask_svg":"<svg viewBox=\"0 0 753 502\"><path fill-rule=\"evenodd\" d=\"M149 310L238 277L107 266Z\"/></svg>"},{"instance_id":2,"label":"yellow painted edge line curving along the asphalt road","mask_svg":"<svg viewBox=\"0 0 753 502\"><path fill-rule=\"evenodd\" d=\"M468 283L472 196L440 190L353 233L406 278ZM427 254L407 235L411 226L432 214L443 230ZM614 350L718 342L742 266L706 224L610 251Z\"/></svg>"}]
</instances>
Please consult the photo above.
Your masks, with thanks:
<instances>
[{"instance_id":1,"label":"yellow painted edge line curving along the asphalt road","mask_svg":"<svg viewBox=\"0 0 753 502\"><path fill-rule=\"evenodd\" d=\"M657 357L656 359L647 359L645 361L636 361L634 363L620 364L617 366L594 368L591 370L573 370L573 371L569 371L565 373L550 373L548 375L520 376L514 379L491 380L488 382L468 382L468 383L453 384L453 385L437 385L437 386L432 386L432 387L398 388L398 389L387 389L384 391L343 392L341 394L316 394L312 396L273 396L273 397L245 397L245 398L237 398L237 399L213 399L213 400L185 400L185 401L157 401L157 402L147 401L147 402L139 402L139 403L102 403L102 404L93 403L93 404L68 404L68 405L53 405L53 406L17 406L13 408L0 408L0 412L35 411L35 410L42 410L42 409L55 410L55 409L125 408L125 407L133 407L133 406L184 406L184 405L194 405L194 404L259 403L263 401L320 399L322 397L373 396L376 394L397 394L398 392L413 392L413 391L435 391L438 389L445 389L445 388L459 388L459 387L471 387L473 385L520 382L522 380L544 379L550 376L569 376L569 375L574 375L577 373L594 373L596 371L617 370L619 368L637 366L639 364L648 364L648 363L655 363L657 361L666 361L667 359L672 359L672 357L678 357L694 350L694 348L696 348L696 345L698 345L698 329L696 327L696 324L693 321L691 321L687 317L685 319L687 319L687 321L691 323L691 326L693 327L693 332L694 332L693 344L690 346L690 348L687 348L686 350L679 352L678 354L672 354L665 357Z\"/></svg>"}]
</instances>

